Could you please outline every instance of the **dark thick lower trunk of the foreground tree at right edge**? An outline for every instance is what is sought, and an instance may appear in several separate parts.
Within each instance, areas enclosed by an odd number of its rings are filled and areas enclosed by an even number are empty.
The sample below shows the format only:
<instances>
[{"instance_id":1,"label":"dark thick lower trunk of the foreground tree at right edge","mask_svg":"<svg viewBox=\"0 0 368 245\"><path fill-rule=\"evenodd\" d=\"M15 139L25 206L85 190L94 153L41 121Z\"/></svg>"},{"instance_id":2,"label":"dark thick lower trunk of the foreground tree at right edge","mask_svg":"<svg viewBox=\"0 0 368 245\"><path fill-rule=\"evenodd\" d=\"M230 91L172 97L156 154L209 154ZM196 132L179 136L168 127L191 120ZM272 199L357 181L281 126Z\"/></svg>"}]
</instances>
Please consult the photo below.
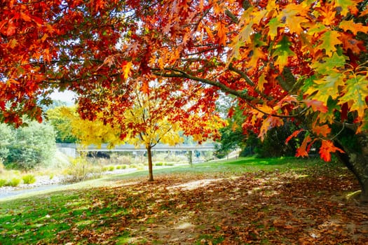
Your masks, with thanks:
<instances>
[{"instance_id":1,"label":"dark thick lower trunk of the foreground tree at right edge","mask_svg":"<svg viewBox=\"0 0 368 245\"><path fill-rule=\"evenodd\" d=\"M368 203L368 135L357 134L355 137L357 137L360 148L347 148L336 140L334 142L336 146L345 151L345 153L337 153L336 155L353 172L357 181L359 181L360 187L362 188L360 195L361 202Z\"/></svg>"}]
</instances>

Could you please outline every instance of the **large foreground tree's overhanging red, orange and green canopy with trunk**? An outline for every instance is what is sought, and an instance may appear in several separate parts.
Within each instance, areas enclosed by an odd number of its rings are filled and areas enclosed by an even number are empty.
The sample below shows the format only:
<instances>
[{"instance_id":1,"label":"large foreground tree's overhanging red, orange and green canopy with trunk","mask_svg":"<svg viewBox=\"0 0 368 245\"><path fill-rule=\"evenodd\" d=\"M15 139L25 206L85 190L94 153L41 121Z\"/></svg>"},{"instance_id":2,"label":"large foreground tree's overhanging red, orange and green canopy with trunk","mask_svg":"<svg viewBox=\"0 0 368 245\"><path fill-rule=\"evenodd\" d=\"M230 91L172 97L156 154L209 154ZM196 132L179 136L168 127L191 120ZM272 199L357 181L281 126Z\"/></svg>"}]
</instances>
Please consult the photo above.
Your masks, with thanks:
<instances>
[{"instance_id":1,"label":"large foreground tree's overhanging red, orange and green canopy with trunk","mask_svg":"<svg viewBox=\"0 0 368 245\"><path fill-rule=\"evenodd\" d=\"M40 119L37 103L47 103L54 87L76 91L79 113L93 119L107 103L91 99L96 87L121 94L125 109L137 80L148 92L155 76L168 78L170 91L203 87L197 106L214 103L219 90L235 95L247 114L244 130L261 139L293 120L302 129L291 137L305 135L297 155L320 141L321 157L336 153L368 201L367 1L11 0L0 7L2 120ZM360 147L344 146L342 134Z\"/></svg>"}]
</instances>

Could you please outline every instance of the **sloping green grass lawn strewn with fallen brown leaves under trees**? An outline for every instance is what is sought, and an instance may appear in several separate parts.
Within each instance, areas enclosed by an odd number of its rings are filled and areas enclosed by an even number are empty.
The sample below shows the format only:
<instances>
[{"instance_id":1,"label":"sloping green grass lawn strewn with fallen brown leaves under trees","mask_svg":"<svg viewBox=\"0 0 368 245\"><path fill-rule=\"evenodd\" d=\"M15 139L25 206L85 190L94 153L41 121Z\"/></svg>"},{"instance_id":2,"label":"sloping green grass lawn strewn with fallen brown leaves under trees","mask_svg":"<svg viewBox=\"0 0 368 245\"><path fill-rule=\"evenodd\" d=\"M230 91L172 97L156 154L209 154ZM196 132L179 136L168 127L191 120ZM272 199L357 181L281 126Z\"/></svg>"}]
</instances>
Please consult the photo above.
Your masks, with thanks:
<instances>
[{"instance_id":1,"label":"sloping green grass lawn strewn with fallen brown leaves under trees","mask_svg":"<svg viewBox=\"0 0 368 245\"><path fill-rule=\"evenodd\" d=\"M355 223L350 204L333 197L357 184L334 163L240 158L155 169L154 178L139 171L0 200L0 244L318 243L331 239L321 207ZM348 239L339 231L329 235Z\"/></svg>"}]
</instances>

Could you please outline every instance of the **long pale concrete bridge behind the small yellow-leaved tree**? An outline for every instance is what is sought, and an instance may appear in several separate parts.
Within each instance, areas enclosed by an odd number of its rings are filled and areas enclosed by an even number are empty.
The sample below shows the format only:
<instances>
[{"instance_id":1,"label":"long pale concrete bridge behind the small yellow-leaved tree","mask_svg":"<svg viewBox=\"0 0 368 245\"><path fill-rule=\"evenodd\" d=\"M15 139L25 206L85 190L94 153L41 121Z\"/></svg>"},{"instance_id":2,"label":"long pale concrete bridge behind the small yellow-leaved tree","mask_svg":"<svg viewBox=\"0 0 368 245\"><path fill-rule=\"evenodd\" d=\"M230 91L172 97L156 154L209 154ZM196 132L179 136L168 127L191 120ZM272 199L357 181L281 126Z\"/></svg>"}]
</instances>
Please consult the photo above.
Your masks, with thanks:
<instances>
[{"instance_id":1,"label":"long pale concrete bridge behind the small yellow-leaved tree","mask_svg":"<svg viewBox=\"0 0 368 245\"><path fill-rule=\"evenodd\" d=\"M139 151L146 151L144 146L135 147L131 144L123 144L114 146L110 148L108 144L102 144L101 147L90 145L87 147L81 146L79 144L56 144L59 151L64 153L65 155L69 155L70 157L76 158L79 155L79 152L116 152L116 151L128 151L128 152L139 152ZM214 151L214 144L202 144L202 145L189 145L189 144L178 144L177 146L169 146L165 144L157 144L152 148L152 151L186 151L186 152L193 152L193 151Z\"/></svg>"}]
</instances>

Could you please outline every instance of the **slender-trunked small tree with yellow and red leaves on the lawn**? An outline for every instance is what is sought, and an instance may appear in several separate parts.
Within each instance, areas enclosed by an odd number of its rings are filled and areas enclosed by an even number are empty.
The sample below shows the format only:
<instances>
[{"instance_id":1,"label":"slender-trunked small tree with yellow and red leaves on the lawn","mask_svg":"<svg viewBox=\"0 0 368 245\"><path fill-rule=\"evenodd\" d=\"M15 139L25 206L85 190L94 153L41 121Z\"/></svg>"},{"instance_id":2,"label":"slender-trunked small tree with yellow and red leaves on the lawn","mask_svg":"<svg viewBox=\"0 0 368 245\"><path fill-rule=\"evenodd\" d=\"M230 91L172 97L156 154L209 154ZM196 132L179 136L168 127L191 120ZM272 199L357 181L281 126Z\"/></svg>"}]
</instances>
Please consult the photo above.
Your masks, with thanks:
<instances>
[{"instance_id":1,"label":"slender-trunked small tree with yellow and red leaves on the lawn","mask_svg":"<svg viewBox=\"0 0 368 245\"><path fill-rule=\"evenodd\" d=\"M199 143L216 139L219 137L219 128L225 122L219 118L214 108L207 106L204 109L194 103L193 98L197 98L201 90L194 93L193 90L189 90L190 93L188 90L169 90L168 86L172 84L165 80L154 80L147 85L142 88L144 83L135 83L129 95L133 102L129 108L121 108L121 99L126 98L114 92L116 90L89 91L94 94L88 96L90 106L99 105L100 109L94 116L95 120L83 120L76 111L65 108L64 115L70 118L72 132L83 145L101 146L107 143L113 147L129 143L137 147L144 146L149 181L154 181L154 146L158 143L175 146L184 141L182 136L189 135ZM106 102L104 107L101 107L102 101ZM195 108L191 109L192 106Z\"/></svg>"}]
</instances>

